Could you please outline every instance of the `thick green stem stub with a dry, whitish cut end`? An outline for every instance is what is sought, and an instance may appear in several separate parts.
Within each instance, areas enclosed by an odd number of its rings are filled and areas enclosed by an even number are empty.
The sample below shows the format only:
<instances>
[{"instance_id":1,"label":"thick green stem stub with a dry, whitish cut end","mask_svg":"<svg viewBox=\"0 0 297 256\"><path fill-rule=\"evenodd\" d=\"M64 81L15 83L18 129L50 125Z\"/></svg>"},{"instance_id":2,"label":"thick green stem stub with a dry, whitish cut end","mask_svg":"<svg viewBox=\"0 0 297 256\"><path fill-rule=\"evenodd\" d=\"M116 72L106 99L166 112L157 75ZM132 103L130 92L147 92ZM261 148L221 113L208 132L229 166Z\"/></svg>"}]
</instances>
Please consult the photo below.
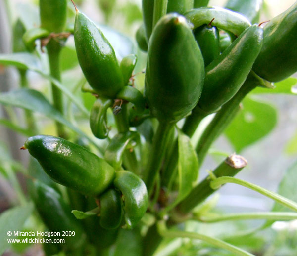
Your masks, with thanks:
<instances>
[{"instance_id":1,"label":"thick green stem stub with a dry, whitish cut end","mask_svg":"<svg viewBox=\"0 0 297 256\"><path fill-rule=\"evenodd\" d=\"M247 165L246 160L239 155L231 155L225 159L213 172L215 177L234 176ZM204 178L191 193L177 206L178 213L185 215L199 203L203 202L216 190L210 187L211 177Z\"/></svg>"}]
</instances>

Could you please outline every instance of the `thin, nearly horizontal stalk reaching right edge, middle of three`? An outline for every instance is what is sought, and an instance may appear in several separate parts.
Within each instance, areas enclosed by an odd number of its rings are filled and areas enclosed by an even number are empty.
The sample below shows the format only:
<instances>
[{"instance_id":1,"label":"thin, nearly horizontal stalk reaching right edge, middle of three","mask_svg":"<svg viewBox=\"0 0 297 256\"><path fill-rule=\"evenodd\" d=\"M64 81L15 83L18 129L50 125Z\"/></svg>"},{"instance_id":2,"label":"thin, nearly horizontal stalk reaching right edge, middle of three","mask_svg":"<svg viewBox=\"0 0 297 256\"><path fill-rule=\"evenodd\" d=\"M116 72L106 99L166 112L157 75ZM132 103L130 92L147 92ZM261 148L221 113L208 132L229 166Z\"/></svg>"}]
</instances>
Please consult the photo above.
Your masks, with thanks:
<instances>
[{"instance_id":1,"label":"thin, nearly horizontal stalk reaching right edge, middle of three","mask_svg":"<svg viewBox=\"0 0 297 256\"><path fill-rule=\"evenodd\" d=\"M266 213L232 213L215 216L197 216L191 219L201 222L219 222L227 220L246 220L246 219L270 219L270 220L293 220L297 219L297 213L287 212L266 212Z\"/></svg>"}]
</instances>

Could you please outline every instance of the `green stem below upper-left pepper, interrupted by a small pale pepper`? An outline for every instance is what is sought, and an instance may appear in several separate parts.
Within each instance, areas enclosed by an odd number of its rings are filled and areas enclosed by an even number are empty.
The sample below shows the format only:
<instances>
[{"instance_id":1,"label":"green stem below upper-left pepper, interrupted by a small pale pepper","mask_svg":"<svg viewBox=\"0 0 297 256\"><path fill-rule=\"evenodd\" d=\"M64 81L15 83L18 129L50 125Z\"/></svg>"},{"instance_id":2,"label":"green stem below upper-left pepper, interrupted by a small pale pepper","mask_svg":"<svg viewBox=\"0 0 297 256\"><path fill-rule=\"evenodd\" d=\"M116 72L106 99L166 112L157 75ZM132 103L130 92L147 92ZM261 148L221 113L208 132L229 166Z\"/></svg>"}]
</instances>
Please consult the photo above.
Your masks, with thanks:
<instances>
[{"instance_id":1,"label":"green stem below upper-left pepper, interrupted by a small pale pepper","mask_svg":"<svg viewBox=\"0 0 297 256\"><path fill-rule=\"evenodd\" d=\"M129 120L127 116L127 105L122 105L122 110L117 115L114 115L115 124L119 133L129 131ZM130 152L125 150L123 153L123 162L127 170L134 173L139 173L139 164L135 155L135 151Z\"/></svg>"}]
</instances>

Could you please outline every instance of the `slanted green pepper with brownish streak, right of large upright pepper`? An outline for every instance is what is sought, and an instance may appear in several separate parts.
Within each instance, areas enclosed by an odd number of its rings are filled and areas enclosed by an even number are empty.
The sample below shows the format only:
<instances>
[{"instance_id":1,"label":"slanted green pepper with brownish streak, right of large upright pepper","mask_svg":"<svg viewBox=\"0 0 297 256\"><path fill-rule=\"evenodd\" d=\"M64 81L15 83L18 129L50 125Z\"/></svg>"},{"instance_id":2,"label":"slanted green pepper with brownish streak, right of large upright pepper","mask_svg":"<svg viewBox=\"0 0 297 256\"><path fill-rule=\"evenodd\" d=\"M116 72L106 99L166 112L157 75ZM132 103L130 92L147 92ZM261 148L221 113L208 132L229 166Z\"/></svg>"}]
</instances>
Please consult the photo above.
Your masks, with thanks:
<instances>
[{"instance_id":1,"label":"slanted green pepper with brownish streak, right of large upright pepper","mask_svg":"<svg viewBox=\"0 0 297 256\"><path fill-rule=\"evenodd\" d=\"M252 25L205 68L205 80L197 108L212 113L229 101L245 82L257 58L263 30Z\"/></svg>"}]
</instances>

